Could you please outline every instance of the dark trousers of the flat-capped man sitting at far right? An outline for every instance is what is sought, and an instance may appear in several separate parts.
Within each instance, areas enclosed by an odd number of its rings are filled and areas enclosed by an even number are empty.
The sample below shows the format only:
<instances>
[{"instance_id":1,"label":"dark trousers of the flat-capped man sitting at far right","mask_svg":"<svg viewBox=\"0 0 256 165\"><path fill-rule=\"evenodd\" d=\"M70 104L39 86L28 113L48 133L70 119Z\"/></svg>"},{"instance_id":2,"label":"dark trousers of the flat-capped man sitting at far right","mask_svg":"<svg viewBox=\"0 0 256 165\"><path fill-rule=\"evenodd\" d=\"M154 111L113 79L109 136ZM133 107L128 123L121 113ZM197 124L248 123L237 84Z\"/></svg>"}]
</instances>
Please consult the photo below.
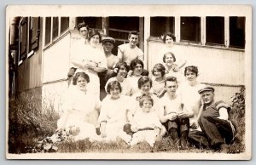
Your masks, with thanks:
<instances>
[{"instance_id":1,"label":"dark trousers of the flat-capped man sitting at far right","mask_svg":"<svg viewBox=\"0 0 256 165\"><path fill-rule=\"evenodd\" d=\"M235 136L230 122L226 120L217 117L201 116L198 123L212 148L222 144L230 144Z\"/></svg>"}]
</instances>

